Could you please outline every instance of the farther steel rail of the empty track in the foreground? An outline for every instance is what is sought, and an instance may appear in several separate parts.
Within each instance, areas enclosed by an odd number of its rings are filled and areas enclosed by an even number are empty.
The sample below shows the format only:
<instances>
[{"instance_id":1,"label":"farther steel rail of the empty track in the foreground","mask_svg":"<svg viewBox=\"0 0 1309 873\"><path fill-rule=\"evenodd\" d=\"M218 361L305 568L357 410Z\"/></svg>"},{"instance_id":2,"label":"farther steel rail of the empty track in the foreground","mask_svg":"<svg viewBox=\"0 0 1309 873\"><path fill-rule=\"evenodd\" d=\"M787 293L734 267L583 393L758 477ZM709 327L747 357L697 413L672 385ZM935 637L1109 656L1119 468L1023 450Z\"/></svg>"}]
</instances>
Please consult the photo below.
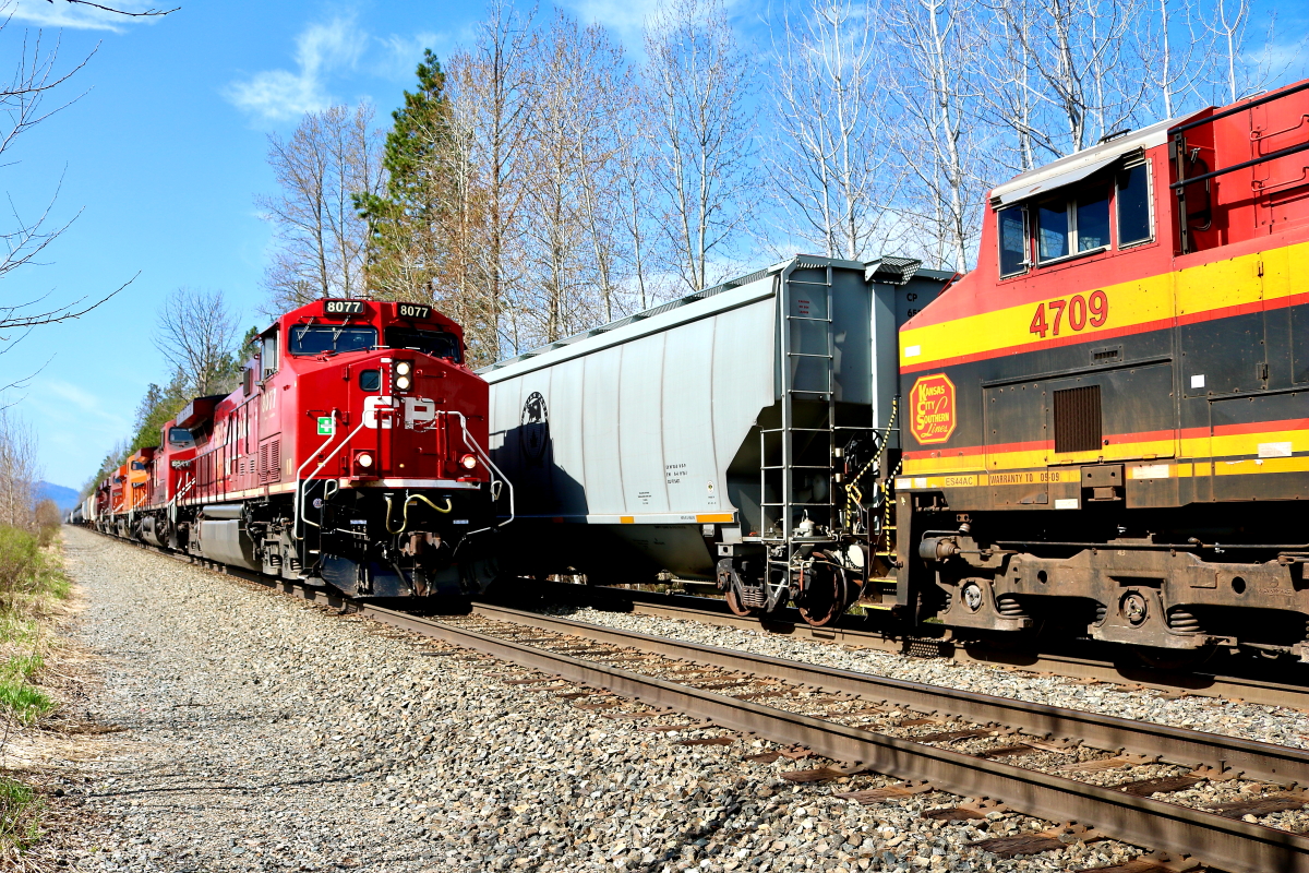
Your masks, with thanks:
<instances>
[{"instance_id":1,"label":"farther steel rail of the empty track in the foreground","mask_svg":"<svg viewBox=\"0 0 1309 873\"><path fill-rule=\"evenodd\" d=\"M504 606L476 603L473 611L514 624L583 636L598 643L685 658L725 670L804 685L821 691L851 694L870 702L886 702L920 712L944 713L977 724L1017 728L1034 737L1072 737L1094 749L1126 750L1131 754L1162 758L1169 763L1187 767L1212 767L1224 775L1241 774L1247 779L1309 785L1309 753L1302 749L804 664L738 649L723 649L700 643L672 640L636 631L525 613Z\"/></svg>"}]
</instances>

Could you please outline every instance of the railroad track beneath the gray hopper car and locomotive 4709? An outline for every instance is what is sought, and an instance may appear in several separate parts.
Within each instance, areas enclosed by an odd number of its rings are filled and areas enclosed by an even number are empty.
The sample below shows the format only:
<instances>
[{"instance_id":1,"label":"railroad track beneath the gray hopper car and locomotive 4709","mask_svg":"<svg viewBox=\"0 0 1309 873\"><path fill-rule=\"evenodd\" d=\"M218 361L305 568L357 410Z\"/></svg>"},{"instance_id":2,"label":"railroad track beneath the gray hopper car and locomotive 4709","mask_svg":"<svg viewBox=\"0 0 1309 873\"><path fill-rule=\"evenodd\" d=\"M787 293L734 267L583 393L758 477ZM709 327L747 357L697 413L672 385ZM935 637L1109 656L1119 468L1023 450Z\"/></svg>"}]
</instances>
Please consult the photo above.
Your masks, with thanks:
<instances>
[{"instance_id":1,"label":"railroad track beneath the gray hopper car and locomotive 4709","mask_svg":"<svg viewBox=\"0 0 1309 873\"><path fill-rule=\"evenodd\" d=\"M1096 679L1128 687L1185 691L1198 696L1244 700L1268 707L1309 709L1309 669L1304 668L1289 670L1289 673L1299 671L1300 675L1287 681L1221 670L1161 670L1093 657L1086 652L1033 653L986 645L963 645L944 637L903 637L848 626L813 627L800 620L798 616L792 619L789 613L793 610L762 620L753 616L742 618L726 611L723 601L709 597L631 592L569 582L534 582L534 585L541 586L541 599L547 603L590 606L635 615L700 622L716 627L764 631L792 639L835 643L878 652L949 658L959 664L984 664L1071 679ZM1266 669L1274 668L1270 665Z\"/></svg>"}]
</instances>

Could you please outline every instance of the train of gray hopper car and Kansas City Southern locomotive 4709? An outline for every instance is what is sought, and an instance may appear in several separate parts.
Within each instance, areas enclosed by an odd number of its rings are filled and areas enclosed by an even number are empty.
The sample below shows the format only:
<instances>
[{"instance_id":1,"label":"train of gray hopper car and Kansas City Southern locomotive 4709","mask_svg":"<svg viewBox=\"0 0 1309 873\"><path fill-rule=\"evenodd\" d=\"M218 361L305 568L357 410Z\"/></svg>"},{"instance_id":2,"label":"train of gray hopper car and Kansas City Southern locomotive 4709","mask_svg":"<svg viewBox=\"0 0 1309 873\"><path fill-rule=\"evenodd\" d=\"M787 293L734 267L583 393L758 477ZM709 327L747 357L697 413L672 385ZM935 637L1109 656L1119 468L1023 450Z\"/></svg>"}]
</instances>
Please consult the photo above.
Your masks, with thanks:
<instances>
[{"instance_id":1,"label":"train of gray hopper car and Kansas City Southern locomotive 4709","mask_svg":"<svg viewBox=\"0 0 1309 873\"><path fill-rule=\"evenodd\" d=\"M990 192L963 276L797 257L500 361L518 573L1309 660L1309 82Z\"/></svg>"}]
</instances>

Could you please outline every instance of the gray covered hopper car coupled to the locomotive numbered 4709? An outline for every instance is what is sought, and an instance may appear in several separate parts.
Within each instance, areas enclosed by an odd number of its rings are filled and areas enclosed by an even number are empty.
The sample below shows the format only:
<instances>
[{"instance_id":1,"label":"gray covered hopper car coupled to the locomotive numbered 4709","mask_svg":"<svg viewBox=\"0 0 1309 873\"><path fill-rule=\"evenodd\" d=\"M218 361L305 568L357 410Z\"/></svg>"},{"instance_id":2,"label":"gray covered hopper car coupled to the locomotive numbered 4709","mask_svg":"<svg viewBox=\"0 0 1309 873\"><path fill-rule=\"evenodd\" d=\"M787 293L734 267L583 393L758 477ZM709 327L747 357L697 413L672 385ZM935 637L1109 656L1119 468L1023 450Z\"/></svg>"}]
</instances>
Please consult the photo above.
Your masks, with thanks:
<instances>
[{"instance_id":1,"label":"gray covered hopper car coupled to the locomotive numbered 4709","mask_svg":"<svg viewBox=\"0 0 1309 873\"><path fill-rule=\"evenodd\" d=\"M897 329L949 277L800 255L483 369L518 500L504 569L666 571L816 623L844 609L876 561Z\"/></svg>"}]
</instances>

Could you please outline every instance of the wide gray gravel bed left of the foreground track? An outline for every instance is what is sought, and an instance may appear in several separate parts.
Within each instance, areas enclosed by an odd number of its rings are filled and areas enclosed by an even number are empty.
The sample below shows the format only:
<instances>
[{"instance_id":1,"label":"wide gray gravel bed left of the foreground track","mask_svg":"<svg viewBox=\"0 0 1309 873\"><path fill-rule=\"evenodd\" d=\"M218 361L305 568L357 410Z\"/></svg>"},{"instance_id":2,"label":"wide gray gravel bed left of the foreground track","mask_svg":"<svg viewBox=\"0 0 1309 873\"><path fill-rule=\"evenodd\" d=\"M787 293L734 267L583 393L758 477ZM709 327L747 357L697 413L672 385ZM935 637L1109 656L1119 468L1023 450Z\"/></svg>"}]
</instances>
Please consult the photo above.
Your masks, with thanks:
<instances>
[{"instance_id":1,"label":"wide gray gravel bed left of the foreground track","mask_svg":"<svg viewBox=\"0 0 1309 873\"><path fill-rule=\"evenodd\" d=\"M1139 855L1000 860L971 844L1050 823L922 818L959 802L940 793L861 806L834 793L893 780L793 785L780 774L822 762L749 762L775 749L610 719L581 708L602 695L559 696L585 688L84 530L67 543L103 657L80 715L122 728L50 797L79 822L52 838L72 869L1017 873ZM679 745L715 737L732 742Z\"/></svg>"}]
</instances>

